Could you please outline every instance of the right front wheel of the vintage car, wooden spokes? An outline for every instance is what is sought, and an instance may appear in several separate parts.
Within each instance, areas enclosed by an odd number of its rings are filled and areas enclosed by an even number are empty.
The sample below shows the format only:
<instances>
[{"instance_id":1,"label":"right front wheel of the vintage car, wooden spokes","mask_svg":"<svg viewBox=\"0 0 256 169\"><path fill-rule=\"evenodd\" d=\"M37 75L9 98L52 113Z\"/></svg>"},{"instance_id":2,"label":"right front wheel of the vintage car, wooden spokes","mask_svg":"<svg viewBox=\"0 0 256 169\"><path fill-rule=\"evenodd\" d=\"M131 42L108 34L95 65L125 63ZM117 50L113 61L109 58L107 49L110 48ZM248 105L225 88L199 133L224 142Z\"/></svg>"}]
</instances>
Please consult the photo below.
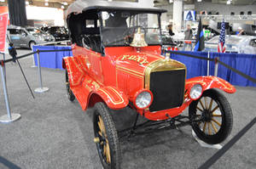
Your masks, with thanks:
<instances>
[{"instance_id":1,"label":"right front wheel of the vintage car, wooden spokes","mask_svg":"<svg viewBox=\"0 0 256 169\"><path fill-rule=\"evenodd\" d=\"M211 100L209 101L207 98ZM201 99L195 100L189 105L189 118L196 136L207 144L223 142L230 135L233 126L230 104L224 95L215 89L205 91ZM201 118L203 121L193 122ZM206 131L206 129L208 130Z\"/></svg>"}]
</instances>

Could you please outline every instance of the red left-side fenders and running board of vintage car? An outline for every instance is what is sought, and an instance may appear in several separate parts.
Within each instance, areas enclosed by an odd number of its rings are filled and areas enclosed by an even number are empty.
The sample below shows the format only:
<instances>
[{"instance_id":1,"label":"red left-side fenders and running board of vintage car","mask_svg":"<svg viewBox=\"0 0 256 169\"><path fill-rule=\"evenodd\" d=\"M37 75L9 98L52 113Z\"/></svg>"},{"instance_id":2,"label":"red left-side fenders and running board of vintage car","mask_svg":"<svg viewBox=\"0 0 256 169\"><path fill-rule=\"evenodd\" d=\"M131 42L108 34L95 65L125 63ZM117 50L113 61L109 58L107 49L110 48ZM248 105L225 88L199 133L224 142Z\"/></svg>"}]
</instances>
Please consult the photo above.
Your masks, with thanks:
<instances>
[{"instance_id":1,"label":"red left-side fenders and running board of vintage car","mask_svg":"<svg viewBox=\"0 0 256 169\"><path fill-rule=\"evenodd\" d=\"M70 88L83 110L102 101L113 110L123 109L129 104L129 99L119 89L102 87L88 76L74 57L63 58L62 67L67 70Z\"/></svg>"}]
</instances>

